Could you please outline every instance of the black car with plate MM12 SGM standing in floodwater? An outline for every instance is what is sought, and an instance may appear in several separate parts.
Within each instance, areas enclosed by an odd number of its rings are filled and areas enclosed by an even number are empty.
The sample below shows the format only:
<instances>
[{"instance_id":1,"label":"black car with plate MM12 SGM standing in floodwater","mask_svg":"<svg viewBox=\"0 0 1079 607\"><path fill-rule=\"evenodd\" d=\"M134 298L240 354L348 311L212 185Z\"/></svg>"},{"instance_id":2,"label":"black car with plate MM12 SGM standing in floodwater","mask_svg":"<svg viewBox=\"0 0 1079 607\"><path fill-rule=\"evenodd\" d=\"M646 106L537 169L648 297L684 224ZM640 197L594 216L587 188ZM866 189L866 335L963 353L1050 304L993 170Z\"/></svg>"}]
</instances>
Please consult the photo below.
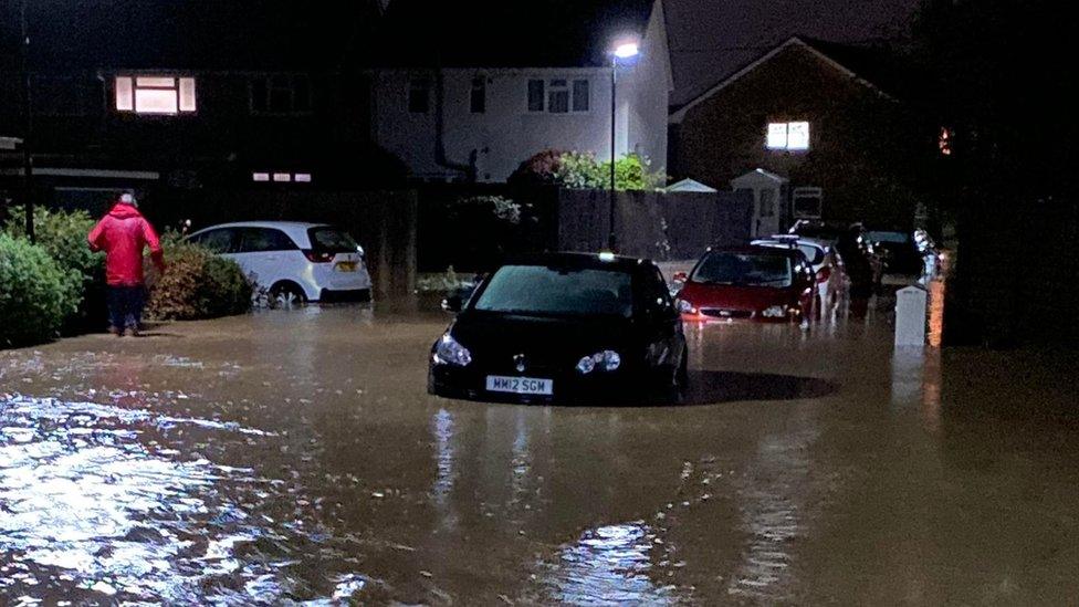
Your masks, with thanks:
<instances>
[{"instance_id":1,"label":"black car with plate MM12 SGM standing in floodwater","mask_svg":"<svg viewBox=\"0 0 1079 607\"><path fill-rule=\"evenodd\" d=\"M639 395L678 399L682 321L654 263L609 253L509 260L431 347L428 391L544 402Z\"/></svg>"}]
</instances>

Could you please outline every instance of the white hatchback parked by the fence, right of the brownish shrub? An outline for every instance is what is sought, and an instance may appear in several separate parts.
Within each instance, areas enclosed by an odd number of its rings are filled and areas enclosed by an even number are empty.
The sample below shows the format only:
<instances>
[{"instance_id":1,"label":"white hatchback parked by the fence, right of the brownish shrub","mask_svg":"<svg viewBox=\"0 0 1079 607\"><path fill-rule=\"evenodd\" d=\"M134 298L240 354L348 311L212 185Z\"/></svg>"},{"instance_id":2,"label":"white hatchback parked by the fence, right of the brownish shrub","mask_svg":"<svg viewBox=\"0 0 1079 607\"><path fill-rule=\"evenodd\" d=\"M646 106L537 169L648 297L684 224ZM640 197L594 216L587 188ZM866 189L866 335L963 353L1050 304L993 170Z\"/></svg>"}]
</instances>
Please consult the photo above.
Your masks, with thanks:
<instances>
[{"instance_id":1,"label":"white hatchback parked by the fence, right of the brownish shrub","mask_svg":"<svg viewBox=\"0 0 1079 607\"><path fill-rule=\"evenodd\" d=\"M282 303L370 301L364 249L325 223L245 221L199 230L188 240L234 260Z\"/></svg>"}]
</instances>

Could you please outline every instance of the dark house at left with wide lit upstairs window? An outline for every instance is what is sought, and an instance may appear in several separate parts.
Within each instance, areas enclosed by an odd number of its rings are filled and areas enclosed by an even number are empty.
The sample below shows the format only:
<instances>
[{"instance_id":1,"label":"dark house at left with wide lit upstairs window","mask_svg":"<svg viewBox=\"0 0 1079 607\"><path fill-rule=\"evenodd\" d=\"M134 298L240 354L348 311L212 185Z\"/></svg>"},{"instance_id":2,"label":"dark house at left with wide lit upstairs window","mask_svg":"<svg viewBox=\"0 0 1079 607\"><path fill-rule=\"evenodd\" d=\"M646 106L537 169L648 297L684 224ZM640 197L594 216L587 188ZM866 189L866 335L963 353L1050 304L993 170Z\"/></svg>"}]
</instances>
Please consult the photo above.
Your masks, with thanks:
<instances>
[{"instance_id":1,"label":"dark house at left with wide lit upstairs window","mask_svg":"<svg viewBox=\"0 0 1079 607\"><path fill-rule=\"evenodd\" d=\"M0 9L0 134L27 140L43 202L404 177L371 147L369 112L357 111L369 84L356 41L377 22L374 0L30 3L30 136L11 10ZM19 199L21 148L11 147L0 148L0 190Z\"/></svg>"}]
</instances>

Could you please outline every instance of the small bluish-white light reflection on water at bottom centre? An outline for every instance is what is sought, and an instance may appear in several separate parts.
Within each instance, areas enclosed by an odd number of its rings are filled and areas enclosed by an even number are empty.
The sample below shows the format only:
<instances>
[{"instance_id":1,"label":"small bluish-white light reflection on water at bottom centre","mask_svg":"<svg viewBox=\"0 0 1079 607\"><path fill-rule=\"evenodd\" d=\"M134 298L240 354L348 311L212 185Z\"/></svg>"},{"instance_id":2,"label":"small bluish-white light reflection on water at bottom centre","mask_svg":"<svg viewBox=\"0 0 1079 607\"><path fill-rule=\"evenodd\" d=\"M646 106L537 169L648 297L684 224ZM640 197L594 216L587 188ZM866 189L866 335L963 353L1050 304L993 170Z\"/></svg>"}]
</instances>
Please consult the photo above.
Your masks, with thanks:
<instances>
[{"instance_id":1,"label":"small bluish-white light reflection on water at bottom centre","mask_svg":"<svg viewBox=\"0 0 1079 607\"><path fill-rule=\"evenodd\" d=\"M649 575L656 534L642 521L585 532L563 547L549 565L545 584L551 598L573 605L667 605L673 588Z\"/></svg>"}]
</instances>

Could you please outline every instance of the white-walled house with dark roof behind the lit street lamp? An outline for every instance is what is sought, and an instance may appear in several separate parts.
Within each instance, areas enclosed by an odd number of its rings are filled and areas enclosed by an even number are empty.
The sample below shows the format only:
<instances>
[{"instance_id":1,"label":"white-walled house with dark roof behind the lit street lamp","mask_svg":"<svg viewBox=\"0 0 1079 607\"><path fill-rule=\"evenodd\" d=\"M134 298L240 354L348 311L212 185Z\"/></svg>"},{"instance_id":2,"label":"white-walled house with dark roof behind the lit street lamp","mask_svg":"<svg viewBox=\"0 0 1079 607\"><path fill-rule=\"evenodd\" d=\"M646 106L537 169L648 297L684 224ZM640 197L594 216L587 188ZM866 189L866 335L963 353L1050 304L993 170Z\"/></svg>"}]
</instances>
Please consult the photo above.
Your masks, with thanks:
<instances>
[{"instance_id":1,"label":"white-walled house with dark roof behind the lit street lamp","mask_svg":"<svg viewBox=\"0 0 1079 607\"><path fill-rule=\"evenodd\" d=\"M661 0L394 0L373 72L374 140L423 180L500 182L544 149L662 169L672 90ZM612 67L614 45L640 54Z\"/></svg>"}]
</instances>

